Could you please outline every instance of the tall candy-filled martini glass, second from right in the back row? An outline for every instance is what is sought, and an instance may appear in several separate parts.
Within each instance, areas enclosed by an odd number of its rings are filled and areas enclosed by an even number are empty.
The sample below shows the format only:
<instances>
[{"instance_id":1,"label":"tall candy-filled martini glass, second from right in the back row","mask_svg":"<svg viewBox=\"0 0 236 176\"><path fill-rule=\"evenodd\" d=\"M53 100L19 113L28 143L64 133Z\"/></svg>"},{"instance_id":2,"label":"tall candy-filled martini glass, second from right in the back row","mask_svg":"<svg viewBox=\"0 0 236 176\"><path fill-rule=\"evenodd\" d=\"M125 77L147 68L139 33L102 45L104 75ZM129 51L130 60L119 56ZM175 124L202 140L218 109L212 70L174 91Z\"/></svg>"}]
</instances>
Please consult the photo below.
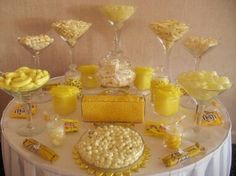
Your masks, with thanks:
<instances>
[{"instance_id":1,"label":"tall candy-filled martini glass, second from right in the back row","mask_svg":"<svg viewBox=\"0 0 236 176\"><path fill-rule=\"evenodd\" d=\"M164 64L164 73L168 79L173 82L172 71L170 68L170 52L174 43L183 37L189 30L189 27L177 20L164 20L150 24L150 28L157 35L161 42L166 56Z\"/></svg>"}]
</instances>

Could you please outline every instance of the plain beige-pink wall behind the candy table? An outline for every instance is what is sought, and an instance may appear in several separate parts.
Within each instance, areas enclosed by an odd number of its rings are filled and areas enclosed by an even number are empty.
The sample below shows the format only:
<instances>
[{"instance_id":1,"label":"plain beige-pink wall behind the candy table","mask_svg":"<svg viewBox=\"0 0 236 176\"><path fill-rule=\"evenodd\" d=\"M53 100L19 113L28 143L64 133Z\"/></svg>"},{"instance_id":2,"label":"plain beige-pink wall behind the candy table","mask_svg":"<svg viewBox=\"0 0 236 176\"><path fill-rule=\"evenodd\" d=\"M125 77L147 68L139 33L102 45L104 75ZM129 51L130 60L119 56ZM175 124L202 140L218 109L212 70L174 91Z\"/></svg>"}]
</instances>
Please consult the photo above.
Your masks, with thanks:
<instances>
[{"instance_id":1,"label":"plain beige-pink wall behind the candy table","mask_svg":"<svg viewBox=\"0 0 236 176\"><path fill-rule=\"evenodd\" d=\"M227 74L236 83L235 0L0 0L0 69L8 71L32 65L31 56L19 46L16 38L48 33L55 38L55 43L41 54L41 67L53 76L62 75L68 65L68 47L50 28L57 19L82 19L93 23L76 46L76 63L97 63L111 48L113 36L97 6L113 2L137 7L122 32L125 54L134 66L157 66L163 62L162 47L148 24L174 18L191 26L186 36L212 36L220 41L219 46L204 56L200 67ZM171 59L174 75L193 68L193 59L181 41L174 46ZM225 92L221 99L231 115L236 134L236 87ZM0 108L8 101L2 92L0 101Z\"/></svg>"}]
</instances>

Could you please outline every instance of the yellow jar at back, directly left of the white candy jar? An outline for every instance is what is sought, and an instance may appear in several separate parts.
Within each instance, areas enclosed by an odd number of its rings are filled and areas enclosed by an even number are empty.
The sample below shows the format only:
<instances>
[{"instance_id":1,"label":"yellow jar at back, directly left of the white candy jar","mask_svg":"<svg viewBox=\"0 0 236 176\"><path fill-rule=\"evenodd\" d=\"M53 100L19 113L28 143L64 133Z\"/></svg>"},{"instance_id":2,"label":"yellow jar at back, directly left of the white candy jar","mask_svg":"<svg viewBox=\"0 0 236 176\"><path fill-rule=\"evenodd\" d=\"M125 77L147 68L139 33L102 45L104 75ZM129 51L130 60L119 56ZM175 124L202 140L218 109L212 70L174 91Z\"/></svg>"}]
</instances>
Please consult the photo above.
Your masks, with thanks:
<instances>
[{"instance_id":1,"label":"yellow jar at back, directly left of the white candy jar","mask_svg":"<svg viewBox=\"0 0 236 176\"><path fill-rule=\"evenodd\" d=\"M96 73L98 71L97 65L81 65L79 67L81 73L81 82L83 88L96 88L99 87L99 81Z\"/></svg>"}]
</instances>

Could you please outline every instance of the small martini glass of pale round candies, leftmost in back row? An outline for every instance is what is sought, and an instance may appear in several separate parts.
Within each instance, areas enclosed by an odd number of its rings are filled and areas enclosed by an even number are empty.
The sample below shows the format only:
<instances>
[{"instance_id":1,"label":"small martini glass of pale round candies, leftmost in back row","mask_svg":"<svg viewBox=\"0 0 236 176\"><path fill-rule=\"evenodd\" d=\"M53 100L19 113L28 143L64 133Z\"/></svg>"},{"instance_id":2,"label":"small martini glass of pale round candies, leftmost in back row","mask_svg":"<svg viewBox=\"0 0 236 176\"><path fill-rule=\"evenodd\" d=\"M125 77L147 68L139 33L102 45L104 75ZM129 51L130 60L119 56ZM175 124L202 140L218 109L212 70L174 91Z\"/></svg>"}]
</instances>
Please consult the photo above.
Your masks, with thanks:
<instances>
[{"instance_id":1,"label":"small martini glass of pale round candies, leftmost in back row","mask_svg":"<svg viewBox=\"0 0 236 176\"><path fill-rule=\"evenodd\" d=\"M28 35L18 37L18 42L32 54L34 59L34 67L40 68L40 53L43 49L47 48L54 42L54 39L48 35ZM48 92L38 89L37 93L34 93L34 97L31 97L34 103L44 103L51 100L51 96Z\"/></svg>"}]
</instances>

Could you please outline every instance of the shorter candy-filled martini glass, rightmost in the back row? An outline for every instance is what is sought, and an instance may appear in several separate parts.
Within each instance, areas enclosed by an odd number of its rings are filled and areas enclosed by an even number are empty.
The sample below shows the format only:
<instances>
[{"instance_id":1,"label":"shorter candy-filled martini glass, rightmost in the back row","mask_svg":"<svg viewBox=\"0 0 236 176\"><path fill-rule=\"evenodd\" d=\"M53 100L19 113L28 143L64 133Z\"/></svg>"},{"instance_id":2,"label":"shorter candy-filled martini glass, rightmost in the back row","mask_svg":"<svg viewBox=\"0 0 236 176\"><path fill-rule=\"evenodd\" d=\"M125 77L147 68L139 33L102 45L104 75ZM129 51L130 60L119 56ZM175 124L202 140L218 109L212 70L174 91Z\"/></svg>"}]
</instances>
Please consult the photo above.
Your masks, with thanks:
<instances>
[{"instance_id":1,"label":"shorter candy-filled martini glass, rightmost in the back row","mask_svg":"<svg viewBox=\"0 0 236 176\"><path fill-rule=\"evenodd\" d=\"M210 37L188 37L184 40L185 48L195 59L195 71L199 71L199 65L202 60L202 56L207 51L209 51L210 48L216 45L218 45L217 40Z\"/></svg>"}]
</instances>

